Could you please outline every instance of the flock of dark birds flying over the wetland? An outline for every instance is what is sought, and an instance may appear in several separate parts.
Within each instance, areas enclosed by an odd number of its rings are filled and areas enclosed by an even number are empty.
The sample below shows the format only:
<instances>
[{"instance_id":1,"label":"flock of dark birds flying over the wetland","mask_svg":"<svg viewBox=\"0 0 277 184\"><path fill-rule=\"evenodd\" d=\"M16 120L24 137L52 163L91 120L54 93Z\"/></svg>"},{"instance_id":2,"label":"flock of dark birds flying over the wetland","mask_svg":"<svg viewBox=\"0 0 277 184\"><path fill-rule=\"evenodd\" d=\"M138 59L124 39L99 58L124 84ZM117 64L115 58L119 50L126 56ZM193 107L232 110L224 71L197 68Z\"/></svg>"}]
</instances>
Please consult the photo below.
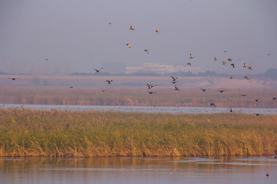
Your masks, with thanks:
<instances>
[{"instance_id":1,"label":"flock of dark birds flying over the wetland","mask_svg":"<svg viewBox=\"0 0 277 184\"><path fill-rule=\"evenodd\" d=\"M111 25L111 22L109 23L109 25ZM132 30L132 31L134 31L135 30L135 28L133 27L133 26L130 26L130 29L129 30ZM161 30L156 30L155 32L156 33L159 33ZM131 43L126 43L126 45L129 47L129 48L131 48ZM145 49L144 50L145 52L147 52L148 54L149 54L149 50L148 49ZM224 53L226 53L227 51L224 51ZM268 56L270 55L270 54L267 54ZM189 57L189 59L193 59L193 58L195 58L195 56L192 56L192 54L190 54L190 57ZM45 60L48 60L47 58L45 59ZM214 61L217 61L217 60L219 60L219 59L217 59L216 57L214 57ZM228 60L228 62L232 62L232 58L229 58L229 59L227 59ZM192 65L191 64L191 62L188 62L187 63L188 65ZM227 61L222 61L222 64L227 64ZM233 68L235 68L235 63L231 63L230 64ZM253 67L252 66L248 66L246 63L243 63L243 66L242 67L244 67L244 68L248 68L248 70L253 70ZM103 67L101 67L100 69L95 69L95 68L93 68L94 70L95 70L95 72L97 73L97 72L100 72L102 69L103 69ZM173 76L171 76L171 78L172 78L172 84L175 84L175 83L178 83L178 82L180 82L180 81L177 81L176 79L177 79L177 77L173 77ZM244 78L246 78L247 80L249 80L249 76L245 76ZM16 79L20 79L20 78L9 78L9 79L12 79L12 80L16 80ZM230 79L234 79L234 77L233 76L230 76ZM106 82L108 82L108 84L111 84L112 83L112 81L113 80L106 80ZM146 84L147 85L147 87L148 87L148 89L152 89L154 86L157 86L157 84L156 85L153 85L153 84ZM73 88L73 86L70 86L69 88ZM206 89L203 89L203 88L200 88L203 92L204 91L206 91L206 90L209 90L210 88L206 88ZM106 91L106 89L105 90L103 90L103 89L101 89L102 90L102 92L105 92ZM175 90L180 90L176 85L175 85ZM223 93L223 92L226 92L226 91L228 91L228 90L216 90L216 91L219 91L220 93ZM149 91L148 90L148 93L151 95L151 94L156 94L157 93L157 91ZM248 95L241 95L242 97L246 97L246 96L248 96ZM258 102L261 98L259 98L259 99L255 99L255 98L253 98L256 102ZM272 98L272 100L273 101L277 101L277 99L275 98L275 97L273 97ZM214 107L216 107L216 105L214 104L214 103L210 103L210 106L214 106ZM233 112L233 109L234 109L234 107L230 107L230 112ZM256 116L260 116L261 114L260 113L254 113Z\"/></svg>"}]
</instances>

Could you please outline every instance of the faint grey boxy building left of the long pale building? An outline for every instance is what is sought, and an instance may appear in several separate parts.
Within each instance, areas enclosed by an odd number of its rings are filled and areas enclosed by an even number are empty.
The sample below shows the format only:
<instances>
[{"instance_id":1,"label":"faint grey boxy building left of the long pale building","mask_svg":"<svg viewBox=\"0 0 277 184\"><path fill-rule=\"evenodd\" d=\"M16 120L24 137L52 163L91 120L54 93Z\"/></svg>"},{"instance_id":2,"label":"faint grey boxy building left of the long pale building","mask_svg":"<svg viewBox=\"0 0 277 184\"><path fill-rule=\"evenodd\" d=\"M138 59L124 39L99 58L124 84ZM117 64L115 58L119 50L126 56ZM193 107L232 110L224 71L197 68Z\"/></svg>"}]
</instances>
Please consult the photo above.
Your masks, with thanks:
<instances>
[{"instance_id":1,"label":"faint grey boxy building left of the long pale building","mask_svg":"<svg viewBox=\"0 0 277 184\"><path fill-rule=\"evenodd\" d=\"M126 65L125 62L104 62L103 63L103 71L109 74L125 74L126 73Z\"/></svg>"}]
</instances>

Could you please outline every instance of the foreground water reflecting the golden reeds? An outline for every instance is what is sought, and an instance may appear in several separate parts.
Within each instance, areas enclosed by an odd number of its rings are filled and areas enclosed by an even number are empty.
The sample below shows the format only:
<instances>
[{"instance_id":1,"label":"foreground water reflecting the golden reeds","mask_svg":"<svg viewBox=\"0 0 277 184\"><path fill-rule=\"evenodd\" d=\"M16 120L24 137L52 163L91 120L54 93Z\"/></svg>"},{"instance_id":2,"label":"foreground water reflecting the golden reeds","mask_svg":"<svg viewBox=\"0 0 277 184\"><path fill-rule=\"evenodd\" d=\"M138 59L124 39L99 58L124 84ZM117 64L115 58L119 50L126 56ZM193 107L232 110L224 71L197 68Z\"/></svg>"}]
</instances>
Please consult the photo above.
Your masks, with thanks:
<instances>
[{"instance_id":1,"label":"foreground water reflecting the golden reeds","mask_svg":"<svg viewBox=\"0 0 277 184\"><path fill-rule=\"evenodd\" d=\"M266 174L269 174L267 177ZM0 183L274 183L277 158L0 158Z\"/></svg>"}]
</instances>

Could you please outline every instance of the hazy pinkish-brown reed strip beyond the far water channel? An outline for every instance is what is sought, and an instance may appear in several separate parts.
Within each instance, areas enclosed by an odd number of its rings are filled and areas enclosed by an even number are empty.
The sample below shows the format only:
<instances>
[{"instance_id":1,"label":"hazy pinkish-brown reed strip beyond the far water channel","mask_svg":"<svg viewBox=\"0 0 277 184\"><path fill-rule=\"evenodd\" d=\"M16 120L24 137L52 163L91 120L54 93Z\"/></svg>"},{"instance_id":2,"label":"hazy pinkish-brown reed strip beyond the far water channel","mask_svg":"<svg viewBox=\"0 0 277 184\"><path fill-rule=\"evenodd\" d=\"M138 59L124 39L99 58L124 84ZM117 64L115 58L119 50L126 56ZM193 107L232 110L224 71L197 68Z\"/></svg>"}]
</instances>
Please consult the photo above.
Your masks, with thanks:
<instances>
[{"instance_id":1,"label":"hazy pinkish-brown reed strip beyond the far water channel","mask_svg":"<svg viewBox=\"0 0 277 184\"><path fill-rule=\"evenodd\" d=\"M245 108L277 108L277 89L225 89L220 93L210 89L182 89L180 91L159 86L145 88L109 88L101 89L39 89L39 88L0 88L0 103L43 104L43 105L123 105L123 106L186 106L210 107L245 107ZM149 94L147 91L156 91ZM242 97L240 95L248 95ZM258 102L253 99L261 98Z\"/></svg>"}]
</instances>

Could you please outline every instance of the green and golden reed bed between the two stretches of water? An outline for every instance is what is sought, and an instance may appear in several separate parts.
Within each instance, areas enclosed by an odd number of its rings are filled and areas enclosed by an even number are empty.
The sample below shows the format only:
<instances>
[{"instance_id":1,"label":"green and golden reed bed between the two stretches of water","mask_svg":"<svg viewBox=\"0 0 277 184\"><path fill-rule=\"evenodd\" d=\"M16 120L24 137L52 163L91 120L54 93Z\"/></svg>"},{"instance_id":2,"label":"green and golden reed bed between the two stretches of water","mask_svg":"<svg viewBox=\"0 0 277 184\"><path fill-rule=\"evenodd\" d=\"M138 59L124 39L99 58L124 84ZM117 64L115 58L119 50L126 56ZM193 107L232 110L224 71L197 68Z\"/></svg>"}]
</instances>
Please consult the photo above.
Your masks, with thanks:
<instances>
[{"instance_id":1,"label":"green and golden reed bed between the two stretches of water","mask_svg":"<svg viewBox=\"0 0 277 184\"><path fill-rule=\"evenodd\" d=\"M0 116L1 156L273 155L277 150L277 115L0 109Z\"/></svg>"}]
</instances>

